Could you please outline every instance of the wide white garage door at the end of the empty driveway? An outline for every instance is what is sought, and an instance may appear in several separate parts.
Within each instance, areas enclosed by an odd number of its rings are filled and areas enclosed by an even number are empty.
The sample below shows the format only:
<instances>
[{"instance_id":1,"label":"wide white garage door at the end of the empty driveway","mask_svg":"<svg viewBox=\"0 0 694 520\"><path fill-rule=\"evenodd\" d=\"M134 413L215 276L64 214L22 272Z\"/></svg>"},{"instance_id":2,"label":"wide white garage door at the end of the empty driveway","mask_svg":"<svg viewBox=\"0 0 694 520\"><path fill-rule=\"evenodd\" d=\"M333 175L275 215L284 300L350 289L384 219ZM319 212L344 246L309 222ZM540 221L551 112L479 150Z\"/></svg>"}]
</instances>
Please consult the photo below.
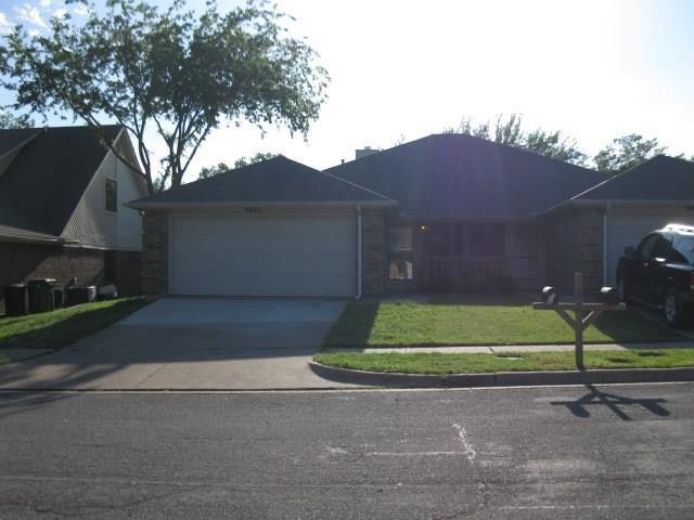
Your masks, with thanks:
<instances>
[{"instance_id":1,"label":"wide white garage door at the end of the empty driveway","mask_svg":"<svg viewBox=\"0 0 694 520\"><path fill-rule=\"evenodd\" d=\"M169 292L354 296L354 216L171 216Z\"/></svg>"}]
</instances>

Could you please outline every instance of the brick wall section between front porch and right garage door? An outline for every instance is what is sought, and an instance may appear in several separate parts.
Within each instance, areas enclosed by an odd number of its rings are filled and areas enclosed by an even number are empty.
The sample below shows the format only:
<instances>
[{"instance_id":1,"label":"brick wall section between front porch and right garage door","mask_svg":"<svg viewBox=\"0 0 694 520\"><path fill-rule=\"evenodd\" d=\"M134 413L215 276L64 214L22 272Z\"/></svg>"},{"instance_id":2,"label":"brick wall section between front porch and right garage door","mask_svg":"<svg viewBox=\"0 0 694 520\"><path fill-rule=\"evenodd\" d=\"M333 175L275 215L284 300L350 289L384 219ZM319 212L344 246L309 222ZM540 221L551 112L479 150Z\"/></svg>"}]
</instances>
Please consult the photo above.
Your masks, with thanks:
<instances>
[{"instance_id":1,"label":"brick wall section between front porch and right garage door","mask_svg":"<svg viewBox=\"0 0 694 520\"><path fill-rule=\"evenodd\" d=\"M587 292L603 283L603 209L565 208L547 218L547 284L573 292L574 273Z\"/></svg>"}]
</instances>

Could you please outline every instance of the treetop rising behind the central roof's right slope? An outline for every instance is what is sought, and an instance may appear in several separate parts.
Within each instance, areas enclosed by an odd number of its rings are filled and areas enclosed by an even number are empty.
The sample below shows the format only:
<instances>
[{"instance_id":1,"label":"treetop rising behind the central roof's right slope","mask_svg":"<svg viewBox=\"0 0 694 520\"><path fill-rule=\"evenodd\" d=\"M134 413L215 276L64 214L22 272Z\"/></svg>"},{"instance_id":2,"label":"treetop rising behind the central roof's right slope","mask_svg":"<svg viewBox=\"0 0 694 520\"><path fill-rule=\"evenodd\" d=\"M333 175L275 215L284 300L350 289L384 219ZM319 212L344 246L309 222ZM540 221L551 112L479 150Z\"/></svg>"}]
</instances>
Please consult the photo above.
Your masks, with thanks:
<instances>
[{"instance_id":1,"label":"treetop rising behind the central roof's right slope","mask_svg":"<svg viewBox=\"0 0 694 520\"><path fill-rule=\"evenodd\" d=\"M464 133L580 166L584 166L588 159L578 148L576 140L564 135L560 130L547 131L538 128L526 131L519 114L507 117L499 115L493 123L474 122L470 117L464 117L458 127L448 128L445 132Z\"/></svg>"}]
</instances>

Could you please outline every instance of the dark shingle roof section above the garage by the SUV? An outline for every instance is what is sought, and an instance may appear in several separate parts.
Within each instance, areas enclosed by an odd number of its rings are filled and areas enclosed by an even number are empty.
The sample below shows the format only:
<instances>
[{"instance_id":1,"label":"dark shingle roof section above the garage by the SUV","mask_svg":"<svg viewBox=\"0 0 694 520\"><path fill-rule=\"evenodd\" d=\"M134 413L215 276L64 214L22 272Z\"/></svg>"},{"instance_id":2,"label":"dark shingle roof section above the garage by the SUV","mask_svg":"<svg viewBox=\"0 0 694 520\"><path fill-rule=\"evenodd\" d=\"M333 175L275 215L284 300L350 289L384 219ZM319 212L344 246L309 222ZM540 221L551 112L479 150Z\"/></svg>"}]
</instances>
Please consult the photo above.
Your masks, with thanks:
<instances>
[{"instance_id":1,"label":"dark shingle roof section above the garage by the SUV","mask_svg":"<svg viewBox=\"0 0 694 520\"><path fill-rule=\"evenodd\" d=\"M694 162L659 155L576 195L571 200L694 200Z\"/></svg>"}]
</instances>

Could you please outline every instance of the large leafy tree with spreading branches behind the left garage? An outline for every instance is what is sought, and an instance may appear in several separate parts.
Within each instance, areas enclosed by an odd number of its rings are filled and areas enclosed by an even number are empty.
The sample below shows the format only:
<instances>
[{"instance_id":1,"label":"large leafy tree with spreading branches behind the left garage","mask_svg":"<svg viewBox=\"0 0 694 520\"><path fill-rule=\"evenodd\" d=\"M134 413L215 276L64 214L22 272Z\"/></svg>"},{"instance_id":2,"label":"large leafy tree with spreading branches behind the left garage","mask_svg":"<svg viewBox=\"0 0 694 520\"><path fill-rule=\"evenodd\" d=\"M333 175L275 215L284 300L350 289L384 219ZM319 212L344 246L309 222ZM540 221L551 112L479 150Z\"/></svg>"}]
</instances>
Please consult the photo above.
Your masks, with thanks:
<instances>
[{"instance_id":1,"label":"large leafy tree with spreading branches behind the left garage","mask_svg":"<svg viewBox=\"0 0 694 520\"><path fill-rule=\"evenodd\" d=\"M47 36L17 26L0 47L2 84L17 107L72 114L97 130L105 119L126 127L151 192L180 185L220 123L306 134L318 118L327 74L262 0L224 14L214 0L201 14L183 0L164 11L141 0L106 0L103 13L88 5L83 25L54 17ZM158 167L151 135L165 150Z\"/></svg>"}]
</instances>

